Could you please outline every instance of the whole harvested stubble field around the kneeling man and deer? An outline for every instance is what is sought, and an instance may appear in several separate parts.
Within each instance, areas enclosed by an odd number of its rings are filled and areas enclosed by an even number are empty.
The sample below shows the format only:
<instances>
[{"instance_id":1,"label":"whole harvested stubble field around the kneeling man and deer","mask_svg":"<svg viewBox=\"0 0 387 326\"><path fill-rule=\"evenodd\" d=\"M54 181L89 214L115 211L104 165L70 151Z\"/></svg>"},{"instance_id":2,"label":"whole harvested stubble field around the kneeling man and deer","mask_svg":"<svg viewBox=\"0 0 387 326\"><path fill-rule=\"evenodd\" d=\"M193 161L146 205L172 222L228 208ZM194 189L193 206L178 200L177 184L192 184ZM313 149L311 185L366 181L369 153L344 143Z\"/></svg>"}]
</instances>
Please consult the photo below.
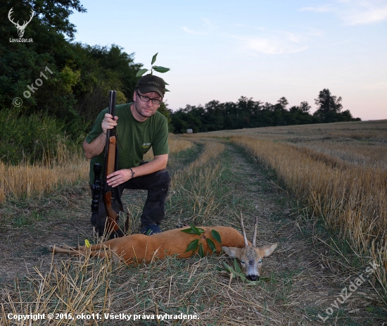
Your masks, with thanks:
<instances>
[{"instance_id":1,"label":"whole harvested stubble field around the kneeling man and deer","mask_svg":"<svg viewBox=\"0 0 387 326\"><path fill-rule=\"evenodd\" d=\"M225 255L137 267L51 256L49 244L98 241L84 177L3 204L0 325L122 325L66 318L28 324L8 313L199 318L141 317L125 325L385 325L386 121L209 132L170 142L178 149L168 165L163 230L182 223L241 230L242 213L251 240L258 216L257 244L279 243L263 261L264 277L243 280ZM124 196L134 233L145 198Z\"/></svg>"}]
</instances>

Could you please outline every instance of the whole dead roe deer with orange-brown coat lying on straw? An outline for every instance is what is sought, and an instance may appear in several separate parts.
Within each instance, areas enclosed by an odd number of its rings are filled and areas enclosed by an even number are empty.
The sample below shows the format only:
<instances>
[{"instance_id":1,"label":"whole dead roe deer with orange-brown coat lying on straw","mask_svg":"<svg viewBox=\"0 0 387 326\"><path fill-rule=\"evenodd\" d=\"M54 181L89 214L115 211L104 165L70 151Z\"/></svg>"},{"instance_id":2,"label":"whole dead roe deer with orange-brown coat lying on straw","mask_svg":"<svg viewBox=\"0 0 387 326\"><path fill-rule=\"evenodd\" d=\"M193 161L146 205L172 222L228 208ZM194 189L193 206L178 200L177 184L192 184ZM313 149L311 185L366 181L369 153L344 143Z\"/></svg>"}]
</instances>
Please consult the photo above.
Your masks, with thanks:
<instances>
[{"instance_id":1,"label":"whole dead roe deer with orange-brown coat lying on straw","mask_svg":"<svg viewBox=\"0 0 387 326\"><path fill-rule=\"evenodd\" d=\"M243 221L241 220L243 236L232 227L215 226L201 227L204 233L201 236L182 232L182 229L174 229L151 236L145 234L130 234L126 237L110 239L101 244L94 244L87 248L86 246L49 246L49 251L53 253L67 253L69 255L80 256L90 251L92 257L113 256L115 261L124 261L125 263L138 264L141 262L151 263L156 259L163 259L165 256L174 256L177 258L189 258L194 256L198 249L186 252L188 245L195 239L199 239L198 244L202 244L205 255L211 254L212 250L208 246L207 238L215 244L216 253L223 250L231 258L238 258L241 261L242 271L249 280L258 280L260 277L260 268L262 258L270 256L277 244L272 246L262 246L255 248L255 236L253 246L246 238ZM255 235L257 225L255 224ZM211 230L219 232L222 244L219 244L211 234Z\"/></svg>"}]
</instances>

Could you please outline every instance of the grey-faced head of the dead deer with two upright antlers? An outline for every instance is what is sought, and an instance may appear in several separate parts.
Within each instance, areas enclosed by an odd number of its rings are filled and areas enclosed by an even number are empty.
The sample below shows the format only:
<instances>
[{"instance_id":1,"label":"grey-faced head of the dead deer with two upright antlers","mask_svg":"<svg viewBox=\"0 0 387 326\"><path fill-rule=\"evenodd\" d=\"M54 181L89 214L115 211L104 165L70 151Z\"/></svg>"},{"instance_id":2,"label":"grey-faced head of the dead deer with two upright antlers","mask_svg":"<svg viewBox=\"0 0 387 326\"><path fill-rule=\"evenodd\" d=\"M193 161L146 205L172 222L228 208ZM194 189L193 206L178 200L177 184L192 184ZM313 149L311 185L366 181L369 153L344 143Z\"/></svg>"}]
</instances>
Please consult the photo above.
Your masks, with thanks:
<instances>
[{"instance_id":1,"label":"grey-faced head of the dead deer with two upright antlers","mask_svg":"<svg viewBox=\"0 0 387 326\"><path fill-rule=\"evenodd\" d=\"M243 218L241 214L241 227L243 238L245 240L244 248L235 248L222 246L223 251L231 258L238 258L241 263L241 269L244 275L250 281L257 281L260 278L260 269L262 268L262 258L268 257L277 248L278 244L255 247L255 238L257 237L258 218L255 218L253 246L248 245Z\"/></svg>"}]
</instances>

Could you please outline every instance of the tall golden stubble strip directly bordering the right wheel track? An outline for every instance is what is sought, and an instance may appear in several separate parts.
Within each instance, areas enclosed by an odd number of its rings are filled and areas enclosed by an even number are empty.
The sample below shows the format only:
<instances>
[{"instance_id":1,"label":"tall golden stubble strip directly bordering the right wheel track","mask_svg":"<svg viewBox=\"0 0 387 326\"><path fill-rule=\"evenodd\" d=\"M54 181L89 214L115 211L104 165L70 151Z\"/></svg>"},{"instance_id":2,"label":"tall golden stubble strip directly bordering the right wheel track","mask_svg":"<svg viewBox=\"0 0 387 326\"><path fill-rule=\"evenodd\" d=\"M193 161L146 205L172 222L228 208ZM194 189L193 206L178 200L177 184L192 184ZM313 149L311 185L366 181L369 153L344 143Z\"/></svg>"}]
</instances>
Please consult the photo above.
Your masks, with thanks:
<instances>
[{"instance_id":1,"label":"tall golden stubble strip directly bordering the right wheel track","mask_svg":"<svg viewBox=\"0 0 387 326\"><path fill-rule=\"evenodd\" d=\"M293 144L231 137L267 168L276 171L292 194L307 202L326 225L352 240L365 261L380 265L377 278L384 294L387 264L387 173L358 165L327 164L319 153Z\"/></svg>"}]
</instances>

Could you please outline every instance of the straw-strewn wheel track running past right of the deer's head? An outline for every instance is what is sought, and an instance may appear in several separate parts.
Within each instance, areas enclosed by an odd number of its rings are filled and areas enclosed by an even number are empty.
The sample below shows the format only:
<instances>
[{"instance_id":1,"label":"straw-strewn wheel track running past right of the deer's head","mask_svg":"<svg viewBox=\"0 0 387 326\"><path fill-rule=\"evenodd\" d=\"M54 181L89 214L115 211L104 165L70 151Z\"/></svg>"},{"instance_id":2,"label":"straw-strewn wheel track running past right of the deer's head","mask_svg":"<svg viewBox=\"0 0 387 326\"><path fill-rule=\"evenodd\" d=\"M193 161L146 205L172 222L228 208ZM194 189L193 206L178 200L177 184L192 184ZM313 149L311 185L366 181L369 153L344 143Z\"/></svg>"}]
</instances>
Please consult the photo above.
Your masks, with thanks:
<instances>
[{"instance_id":1,"label":"straw-strewn wheel track running past right of the deer's head","mask_svg":"<svg viewBox=\"0 0 387 326\"><path fill-rule=\"evenodd\" d=\"M372 286L362 282L352 294L349 291L350 282L367 266L351 269L349 261L318 241L329 242L326 230L317 230L316 219L305 220L305 211L297 212L296 202L278 184L274 173L263 170L235 146L227 146L227 156L231 174L238 180L235 192L243 202L250 203L247 206L253 206L245 211L250 213L250 221L246 222L250 237L252 217L258 214L258 244L279 242L279 248L265 259L263 267L277 286L268 287L269 292L264 291L262 296L271 297L270 308L283 316L281 322L319 325L325 320L328 325L383 325L383 318L369 314L376 301L381 302ZM341 303L345 287L350 299Z\"/></svg>"}]
</instances>

